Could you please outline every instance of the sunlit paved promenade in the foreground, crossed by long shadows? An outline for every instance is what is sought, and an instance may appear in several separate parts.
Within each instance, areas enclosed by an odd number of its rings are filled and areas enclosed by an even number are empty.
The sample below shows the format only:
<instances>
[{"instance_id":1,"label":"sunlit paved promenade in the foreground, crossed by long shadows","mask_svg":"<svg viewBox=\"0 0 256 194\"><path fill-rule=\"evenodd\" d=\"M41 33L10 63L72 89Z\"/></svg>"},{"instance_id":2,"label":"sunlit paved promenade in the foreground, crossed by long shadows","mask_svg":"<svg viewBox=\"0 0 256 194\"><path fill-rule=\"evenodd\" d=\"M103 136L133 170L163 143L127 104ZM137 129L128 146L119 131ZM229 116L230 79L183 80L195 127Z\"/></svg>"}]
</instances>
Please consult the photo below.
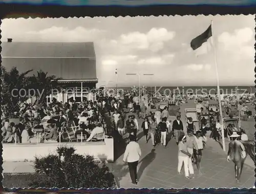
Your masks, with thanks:
<instances>
[{"instance_id":1,"label":"sunlit paved promenade in the foreground, crossed by long shadows","mask_svg":"<svg viewBox=\"0 0 256 194\"><path fill-rule=\"evenodd\" d=\"M191 103L181 106L181 116L183 124L184 109L191 107ZM141 119L139 120L141 123ZM185 127L185 126L184 126ZM140 133L140 132L139 132ZM209 188L209 187L252 187L255 182L254 163L250 158L246 159L241 176L241 183L237 183L234 177L234 164L227 162L227 154L222 150L219 143L208 138L207 147L203 150L201 170L203 175L198 175L196 166L195 179L185 180L184 169L182 175L177 174L178 147L175 140L170 140L164 148L159 145L152 149L151 140L145 143L141 138L138 143L141 146L142 157L138 165L137 188ZM116 177L119 187L134 188L131 183L127 164L122 162L123 155L113 164L109 164Z\"/></svg>"}]
</instances>

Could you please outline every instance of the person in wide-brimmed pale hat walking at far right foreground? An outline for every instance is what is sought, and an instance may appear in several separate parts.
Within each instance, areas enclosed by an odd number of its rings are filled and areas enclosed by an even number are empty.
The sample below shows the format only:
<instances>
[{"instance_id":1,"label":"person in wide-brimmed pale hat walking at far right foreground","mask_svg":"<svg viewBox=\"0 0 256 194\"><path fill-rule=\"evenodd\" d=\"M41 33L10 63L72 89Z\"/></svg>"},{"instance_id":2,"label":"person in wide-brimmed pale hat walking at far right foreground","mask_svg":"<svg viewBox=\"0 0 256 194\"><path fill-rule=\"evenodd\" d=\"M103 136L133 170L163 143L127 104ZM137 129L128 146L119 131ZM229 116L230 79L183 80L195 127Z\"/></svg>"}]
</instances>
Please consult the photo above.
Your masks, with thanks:
<instances>
[{"instance_id":1,"label":"person in wide-brimmed pale hat walking at far right foreground","mask_svg":"<svg viewBox=\"0 0 256 194\"><path fill-rule=\"evenodd\" d=\"M243 143L238 140L238 137L240 137L240 135L238 135L237 132L233 132L233 134L230 136L231 141L228 145L227 161L233 161L236 181L240 182L246 152Z\"/></svg>"}]
</instances>

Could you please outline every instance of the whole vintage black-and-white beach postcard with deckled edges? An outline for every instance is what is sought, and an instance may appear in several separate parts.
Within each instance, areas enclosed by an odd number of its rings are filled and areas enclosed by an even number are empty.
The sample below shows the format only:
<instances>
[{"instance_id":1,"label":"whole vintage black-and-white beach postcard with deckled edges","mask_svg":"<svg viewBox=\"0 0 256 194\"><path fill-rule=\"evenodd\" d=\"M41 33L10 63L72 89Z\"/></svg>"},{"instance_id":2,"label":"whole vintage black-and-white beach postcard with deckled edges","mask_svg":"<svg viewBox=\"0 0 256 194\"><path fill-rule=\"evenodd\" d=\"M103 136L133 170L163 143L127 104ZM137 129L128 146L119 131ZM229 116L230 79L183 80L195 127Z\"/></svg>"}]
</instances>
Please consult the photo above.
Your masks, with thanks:
<instances>
[{"instance_id":1,"label":"whole vintage black-and-white beach postcard with deckled edges","mask_svg":"<svg viewBox=\"0 0 256 194\"><path fill-rule=\"evenodd\" d=\"M3 185L252 187L254 18L3 19Z\"/></svg>"}]
</instances>

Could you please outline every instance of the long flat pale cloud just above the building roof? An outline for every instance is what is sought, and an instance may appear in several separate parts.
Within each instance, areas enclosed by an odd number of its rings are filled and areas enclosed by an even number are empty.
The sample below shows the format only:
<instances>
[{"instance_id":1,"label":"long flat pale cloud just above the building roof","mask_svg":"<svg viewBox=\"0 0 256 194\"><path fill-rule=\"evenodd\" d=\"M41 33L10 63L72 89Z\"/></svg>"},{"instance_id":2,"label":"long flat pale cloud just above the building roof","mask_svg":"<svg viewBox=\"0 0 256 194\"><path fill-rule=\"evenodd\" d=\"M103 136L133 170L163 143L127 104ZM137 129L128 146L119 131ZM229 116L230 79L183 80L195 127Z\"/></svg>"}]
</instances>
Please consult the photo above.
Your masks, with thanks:
<instances>
[{"instance_id":1,"label":"long flat pale cloud just above the building roof","mask_svg":"<svg viewBox=\"0 0 256 194\"><path fill-rule=\"evenodd\" d=\"M76 27L69 29L65 27L47 28L40 31L28 31L25 37L41 41L94 41L100 36L104 35L104 31L99 29L86 29L83 27Z\"/></svg>"}]
</instances>

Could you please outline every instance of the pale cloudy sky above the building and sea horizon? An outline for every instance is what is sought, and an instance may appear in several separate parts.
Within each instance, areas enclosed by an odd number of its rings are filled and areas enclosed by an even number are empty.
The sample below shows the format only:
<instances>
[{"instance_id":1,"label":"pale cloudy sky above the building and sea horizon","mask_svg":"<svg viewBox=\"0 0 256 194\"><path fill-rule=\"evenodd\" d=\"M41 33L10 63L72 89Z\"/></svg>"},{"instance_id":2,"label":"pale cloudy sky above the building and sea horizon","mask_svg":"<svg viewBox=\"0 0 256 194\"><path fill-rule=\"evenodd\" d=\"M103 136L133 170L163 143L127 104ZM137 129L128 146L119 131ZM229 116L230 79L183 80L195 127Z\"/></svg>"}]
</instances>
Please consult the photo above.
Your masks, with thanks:
<instances>
[{"instance_id":1,"label":"pale cloudy sky above the building and sea horizon","mask_svg":"<svg viewBox=\"0 0 256 194\"><path fill-rule=\"evenodd\" d=\"M198 55L190 48L190 41L212 20L220 85L254 85L254 17L3 19L1 41L93 41L99 85L108 87L138 85L139 77L141 85L216 85L214 49Z\"/></svg>"}]
</instances>

